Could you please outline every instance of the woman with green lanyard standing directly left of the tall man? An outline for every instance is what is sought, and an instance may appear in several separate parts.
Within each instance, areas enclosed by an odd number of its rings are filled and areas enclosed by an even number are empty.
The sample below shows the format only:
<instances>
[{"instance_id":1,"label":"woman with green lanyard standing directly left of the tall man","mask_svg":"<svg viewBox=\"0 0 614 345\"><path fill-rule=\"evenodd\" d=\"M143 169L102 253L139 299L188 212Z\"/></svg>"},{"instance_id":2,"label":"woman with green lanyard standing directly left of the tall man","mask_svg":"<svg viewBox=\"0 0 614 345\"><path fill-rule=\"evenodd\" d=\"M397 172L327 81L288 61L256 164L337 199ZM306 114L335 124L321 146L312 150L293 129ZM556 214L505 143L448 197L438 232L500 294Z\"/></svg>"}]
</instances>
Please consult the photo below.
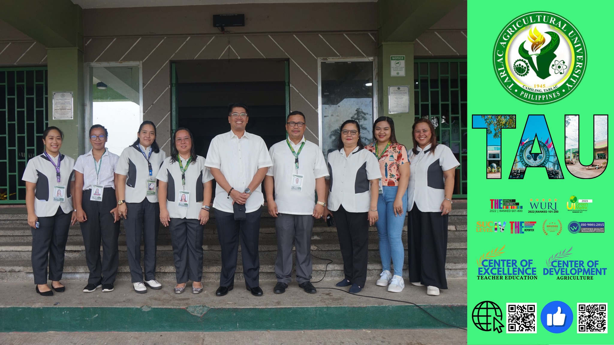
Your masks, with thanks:
<instances>
[{"instance_id":1,"label":"woman with green lanyard standing directly left of the tall man","mask_svg":"<svg viewBox=\"0 0 614 345\"><path fill-rule=\"evenodd\" d=\"M177 128L171 156L164 160L157 176L160 181L160 222L171 233L177 285L184 292L192 281L192 293L203 290L203 225L209 220L213 176L197 156L192 132Z\"/></svg>"}]
</instances>

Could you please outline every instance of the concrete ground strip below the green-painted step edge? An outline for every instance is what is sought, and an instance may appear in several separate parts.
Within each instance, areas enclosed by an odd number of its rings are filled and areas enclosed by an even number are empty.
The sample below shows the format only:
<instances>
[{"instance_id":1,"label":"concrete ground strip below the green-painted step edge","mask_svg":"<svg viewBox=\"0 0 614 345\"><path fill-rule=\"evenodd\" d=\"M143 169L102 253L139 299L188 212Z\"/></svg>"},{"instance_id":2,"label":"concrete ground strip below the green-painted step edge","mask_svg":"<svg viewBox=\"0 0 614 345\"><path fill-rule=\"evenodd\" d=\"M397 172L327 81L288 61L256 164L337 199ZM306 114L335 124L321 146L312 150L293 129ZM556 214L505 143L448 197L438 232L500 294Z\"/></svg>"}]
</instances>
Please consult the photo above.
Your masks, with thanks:
<instances>
[{"instance_id":1,"label":"concrete ground strip below the green-painted step edge","mask_svg":"<svg viewBox=\"0 0 614 345\"><path fill-rule=\"evenodd\" d=\"M81 345L81 344L467 344L467 331L456 328L418 330L320 330L320 331L235 331L176 333L0 333L3 345Z\"/></svg>"}]
</instances>

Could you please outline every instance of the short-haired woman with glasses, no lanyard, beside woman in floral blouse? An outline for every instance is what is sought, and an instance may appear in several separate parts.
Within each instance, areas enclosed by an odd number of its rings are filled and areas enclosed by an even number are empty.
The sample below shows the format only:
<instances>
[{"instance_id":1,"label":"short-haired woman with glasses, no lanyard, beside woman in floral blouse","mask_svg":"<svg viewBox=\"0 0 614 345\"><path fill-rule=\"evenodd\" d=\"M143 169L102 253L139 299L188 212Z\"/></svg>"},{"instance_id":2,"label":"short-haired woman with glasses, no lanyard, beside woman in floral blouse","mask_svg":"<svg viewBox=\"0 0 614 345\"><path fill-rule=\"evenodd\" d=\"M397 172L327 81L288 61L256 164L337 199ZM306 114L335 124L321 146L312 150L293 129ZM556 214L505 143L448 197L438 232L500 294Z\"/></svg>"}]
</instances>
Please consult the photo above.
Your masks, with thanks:
<instances>
[{"instance_id":1,"label":"short-haired woman with glasses, no lanyard, beside woman in floral blouse","mask_svg":"<svg viewBox=\"0 0 614 345\"><path fill-rule=\"evenodd\" d=\"M355 120L341 125L337 150L328 153L326 177L328 210L333 211L345 278L338 287L349 286L358 293L367 281L368 231L378 220L377 158L360 142L360 126Z\"/></svg>"}]
</instances>

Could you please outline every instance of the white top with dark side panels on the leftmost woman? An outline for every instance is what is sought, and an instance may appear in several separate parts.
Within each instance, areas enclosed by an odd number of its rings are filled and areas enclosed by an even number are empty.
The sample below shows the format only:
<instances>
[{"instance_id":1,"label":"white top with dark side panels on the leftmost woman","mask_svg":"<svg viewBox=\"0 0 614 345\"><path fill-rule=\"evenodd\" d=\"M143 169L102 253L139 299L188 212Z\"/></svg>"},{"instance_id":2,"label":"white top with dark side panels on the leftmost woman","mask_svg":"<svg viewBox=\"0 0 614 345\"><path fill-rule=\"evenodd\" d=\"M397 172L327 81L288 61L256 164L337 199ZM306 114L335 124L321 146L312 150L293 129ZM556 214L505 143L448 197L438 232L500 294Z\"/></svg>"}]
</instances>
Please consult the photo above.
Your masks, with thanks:
<instances>
[{"instance_id":1,"label":"white top with dark side panels on the leftmost woman","mask_svg":"<svg viewBox=\"0 0 614 345\"><path fill-rule=\"evenodd\" d=\"M74 181L72 168L75 160L65 155L53 157L60 158L60 183L56 177L55 165L49 161L45 154L31 158L23 172L22 180L36 184L34 190L34 214L36 217L52 217L62 207L64 213L72 212L71 181ZM57 161L55 161L57 163ZM72 182L74 183L74 182ZM64 201L53 201L53 187L61 185L66 187Z\"/></svg>"}]
</instances>

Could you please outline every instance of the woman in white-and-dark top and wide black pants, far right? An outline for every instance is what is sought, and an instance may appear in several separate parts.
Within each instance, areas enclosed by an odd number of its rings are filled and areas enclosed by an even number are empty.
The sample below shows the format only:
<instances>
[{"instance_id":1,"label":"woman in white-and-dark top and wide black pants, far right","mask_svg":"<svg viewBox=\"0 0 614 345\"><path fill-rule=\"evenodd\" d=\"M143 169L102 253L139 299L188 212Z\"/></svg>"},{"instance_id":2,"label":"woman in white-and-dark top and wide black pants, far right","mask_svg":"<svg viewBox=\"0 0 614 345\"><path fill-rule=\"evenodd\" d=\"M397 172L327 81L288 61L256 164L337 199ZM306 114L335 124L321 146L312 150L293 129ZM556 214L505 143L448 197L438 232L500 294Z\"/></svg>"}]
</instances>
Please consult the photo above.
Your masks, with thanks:
<instances>
[{"instance_id":1,"label":"woman in white-and-dark top and wide black pants, far right","mask_svg":"<svg viewBox=\"0 0 614 345\"><path fill-rule=\"evenodd\" d=\"M448 214L452 210L454 171L459 162L449 147L437 144L429 118L419 118L412 129L414 148L409 153L411 173L407 188L410 282L427 285L427 295L437 296L439 289L448 289Z\"/></svg>"}]
</instances>

